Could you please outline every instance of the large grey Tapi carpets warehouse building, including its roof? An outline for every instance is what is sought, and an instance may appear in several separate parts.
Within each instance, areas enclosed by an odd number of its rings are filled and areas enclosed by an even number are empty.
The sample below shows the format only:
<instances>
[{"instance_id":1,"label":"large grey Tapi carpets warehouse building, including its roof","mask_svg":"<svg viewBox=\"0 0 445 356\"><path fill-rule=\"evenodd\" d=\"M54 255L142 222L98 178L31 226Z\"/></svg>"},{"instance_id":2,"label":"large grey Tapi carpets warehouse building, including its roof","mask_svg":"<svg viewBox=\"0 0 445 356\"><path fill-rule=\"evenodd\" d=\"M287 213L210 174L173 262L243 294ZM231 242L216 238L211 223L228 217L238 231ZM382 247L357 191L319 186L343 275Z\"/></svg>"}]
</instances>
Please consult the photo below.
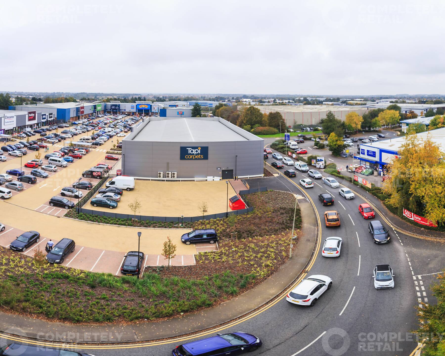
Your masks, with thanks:
<instances>
[{"instance_id":1,"label":"large grey Tapi carpets warehouse building, including its roof","mask_svg":"<svg viewBox=\"0 0 445 356\"><path fill-rule=\"evenodd\" d=\"M122 174L231 179L263 175L264 140L220 117L145 117L122 140Z\"/></svg>"}]
</instances>

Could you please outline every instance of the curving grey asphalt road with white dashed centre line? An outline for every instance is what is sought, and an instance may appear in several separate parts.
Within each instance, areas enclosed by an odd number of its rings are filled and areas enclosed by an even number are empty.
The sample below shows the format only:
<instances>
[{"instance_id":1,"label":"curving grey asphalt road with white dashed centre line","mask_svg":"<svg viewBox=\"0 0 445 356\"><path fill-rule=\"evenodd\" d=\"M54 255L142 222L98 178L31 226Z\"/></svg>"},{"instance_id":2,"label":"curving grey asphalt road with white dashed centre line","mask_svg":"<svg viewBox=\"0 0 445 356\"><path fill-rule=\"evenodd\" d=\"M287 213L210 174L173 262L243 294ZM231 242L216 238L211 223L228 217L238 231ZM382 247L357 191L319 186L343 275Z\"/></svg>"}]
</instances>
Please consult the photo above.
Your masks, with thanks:
<instances>
[{"instance_id":1,"label":"curving grey asphalt road with white dashed centre line","mask_svg":"<svg viewBox=\"0 0 445 356\"><path fill-rule=\"evenodd\" d=\"M296 178L291 179L280 175L265 178L262 182L268 188L279 189L281 186L279 190L303 195L293 184L298 185L302 178L307 178L307 174L298 173ZM333 280L332 288L321 296L314 307L292 305L283 299L258 316L225 332L243 331L258 336L263 341L263 347L251 355L410 355L417 346L417 341L412 340L413 336L409 334L410 330L417 328L414 307L424 298L433 301L429 283L434 275L429 274L441 271L440 249L433 242L396 234L395 231L390 231L391 243L373 243L368 233L368 221L358 213L358 205L364 200L360 197L346 200L338 194L339 188L329 188L321 180L312 180L318 184L305 191L314 201L320 216L322 239L340 236L344 243L339 258L324 258L321 250L317 251L316 261L308 275L328 275ZM252 183L255 184L255 181ZM262 183L257 181L257 184ZM334 196L334 206L322 206L318 201L318 194L327 192ZM326 210L340 213L340 227L324 226L323 213ZM375 219L380 219L378 214ZM380 263L391 265L395 274L395 288L374 288L372 271ZM417 293L420 293L420 297ZM178 344L172 342L139 348L124 346L121 349L111 347L82 352L158 356L171 354Z\"/></svg>"}]
</instances>

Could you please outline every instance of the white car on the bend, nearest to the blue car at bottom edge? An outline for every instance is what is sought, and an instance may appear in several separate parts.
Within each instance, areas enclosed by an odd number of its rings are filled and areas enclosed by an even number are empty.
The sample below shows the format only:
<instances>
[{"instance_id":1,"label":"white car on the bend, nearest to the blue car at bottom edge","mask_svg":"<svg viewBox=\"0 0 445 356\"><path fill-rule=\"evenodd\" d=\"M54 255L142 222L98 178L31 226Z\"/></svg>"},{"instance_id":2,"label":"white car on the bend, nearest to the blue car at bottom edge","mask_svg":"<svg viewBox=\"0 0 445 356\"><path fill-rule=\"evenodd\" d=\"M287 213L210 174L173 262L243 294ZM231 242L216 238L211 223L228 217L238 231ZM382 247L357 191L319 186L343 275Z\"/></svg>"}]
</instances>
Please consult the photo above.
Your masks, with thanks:
<instances>
[{"instance_id":1,"label":"white car on the bend, nearest to the blue car at bottom edge","mask_svg":"<svg viewBox=\"0 0 445 356\"><path fill-rule=\"evenodd\" d=\"M286 296L286 300L292 304L310 305L313 307L317 299L332 287L332 279L327 275L311 275L303 279Z\"/></svg>"}]
</instances>

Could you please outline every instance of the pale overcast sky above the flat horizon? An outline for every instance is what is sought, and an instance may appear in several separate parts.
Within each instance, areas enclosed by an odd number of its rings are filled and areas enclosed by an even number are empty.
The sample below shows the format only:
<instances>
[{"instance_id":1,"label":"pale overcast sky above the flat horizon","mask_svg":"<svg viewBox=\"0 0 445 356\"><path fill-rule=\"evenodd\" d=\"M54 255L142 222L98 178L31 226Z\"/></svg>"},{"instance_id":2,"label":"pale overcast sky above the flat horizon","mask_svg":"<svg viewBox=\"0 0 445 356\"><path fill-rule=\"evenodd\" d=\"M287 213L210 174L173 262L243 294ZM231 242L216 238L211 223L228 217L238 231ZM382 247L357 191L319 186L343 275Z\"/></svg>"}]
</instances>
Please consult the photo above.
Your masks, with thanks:
<instances>
[{"instance_id":1,"label":"pale overcast sky above the flat horizon","mask_svg":"<svg viewBox=\"0 0 445 356\"><path fill-rule=\"evenodd\" d=\"M1 1L0 90L445 93L444 1Z\"/></svg>"}]
</instances>

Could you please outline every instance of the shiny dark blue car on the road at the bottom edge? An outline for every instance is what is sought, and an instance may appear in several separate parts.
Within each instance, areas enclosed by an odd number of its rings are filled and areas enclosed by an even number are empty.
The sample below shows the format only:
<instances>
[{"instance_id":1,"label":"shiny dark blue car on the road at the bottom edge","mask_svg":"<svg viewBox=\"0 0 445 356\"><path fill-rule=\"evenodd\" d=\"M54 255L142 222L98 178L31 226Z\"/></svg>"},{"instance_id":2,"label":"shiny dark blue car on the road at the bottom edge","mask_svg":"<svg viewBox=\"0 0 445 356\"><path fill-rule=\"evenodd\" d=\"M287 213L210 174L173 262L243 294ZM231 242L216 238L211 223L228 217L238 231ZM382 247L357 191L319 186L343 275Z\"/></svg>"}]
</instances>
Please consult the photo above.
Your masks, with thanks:
<instances>
[{"instance_id":1,"label":"shiny dark blue car on the road at the bottom edge","mask_svg":"<svg viewBox=\"0 0 445 356\"><path fill-rule=\"evenodd\" d=\"M173 356L194 355L240 355L259 348L263 343L259 338L245 332L217 334L207 339L192 341L174 348Z\"/></svg>"}]
</instances>

